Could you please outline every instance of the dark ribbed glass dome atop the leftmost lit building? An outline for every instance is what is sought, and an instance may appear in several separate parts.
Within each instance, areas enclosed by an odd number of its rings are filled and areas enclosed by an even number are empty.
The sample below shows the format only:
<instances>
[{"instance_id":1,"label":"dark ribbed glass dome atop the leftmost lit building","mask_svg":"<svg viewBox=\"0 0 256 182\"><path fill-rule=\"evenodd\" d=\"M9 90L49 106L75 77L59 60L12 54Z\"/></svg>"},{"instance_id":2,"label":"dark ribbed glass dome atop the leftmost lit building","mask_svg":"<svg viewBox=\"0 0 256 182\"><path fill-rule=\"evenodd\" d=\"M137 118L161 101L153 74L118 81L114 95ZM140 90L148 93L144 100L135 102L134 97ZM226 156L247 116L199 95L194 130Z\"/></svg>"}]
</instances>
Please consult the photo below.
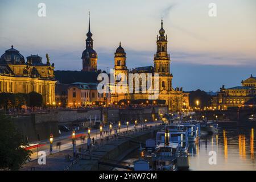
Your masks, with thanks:
<instances>
[{"instance_id":1,"label":"dark ribbed glass dome atop the leftmost lit building","mask_svg":"<svg viewBox=\"0 0 256 182\"><path fill-rule=\"evenodd\" d=\"M24 57L19 53L18 50L11 46L10 49L6 50L5 53L0 57L1 64L15 64L15 63L25 63Z\"/></svg>"}]
</instances>

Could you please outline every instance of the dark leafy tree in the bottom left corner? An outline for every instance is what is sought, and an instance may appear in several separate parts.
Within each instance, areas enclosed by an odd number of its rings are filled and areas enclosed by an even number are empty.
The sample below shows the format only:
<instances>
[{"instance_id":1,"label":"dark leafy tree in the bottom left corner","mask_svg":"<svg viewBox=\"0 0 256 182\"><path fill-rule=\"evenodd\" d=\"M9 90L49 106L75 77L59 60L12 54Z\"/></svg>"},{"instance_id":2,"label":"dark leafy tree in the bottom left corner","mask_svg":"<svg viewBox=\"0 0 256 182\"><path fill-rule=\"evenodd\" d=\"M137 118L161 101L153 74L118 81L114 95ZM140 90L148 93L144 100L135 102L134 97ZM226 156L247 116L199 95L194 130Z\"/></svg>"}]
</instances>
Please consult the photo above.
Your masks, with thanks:
<instances>
[{"instance_id":1,"label":"dark leafy tree in the bottom left corner","mask_svg":"<svg viewBox=\"0 0 256 182\"><path fill-rule=\"evenodd\" d=\"M16 130L13 120L0 113L0 169L18 170L30 159L30 151L20 147L23 137Z\"/></svg>"}]
</instances>

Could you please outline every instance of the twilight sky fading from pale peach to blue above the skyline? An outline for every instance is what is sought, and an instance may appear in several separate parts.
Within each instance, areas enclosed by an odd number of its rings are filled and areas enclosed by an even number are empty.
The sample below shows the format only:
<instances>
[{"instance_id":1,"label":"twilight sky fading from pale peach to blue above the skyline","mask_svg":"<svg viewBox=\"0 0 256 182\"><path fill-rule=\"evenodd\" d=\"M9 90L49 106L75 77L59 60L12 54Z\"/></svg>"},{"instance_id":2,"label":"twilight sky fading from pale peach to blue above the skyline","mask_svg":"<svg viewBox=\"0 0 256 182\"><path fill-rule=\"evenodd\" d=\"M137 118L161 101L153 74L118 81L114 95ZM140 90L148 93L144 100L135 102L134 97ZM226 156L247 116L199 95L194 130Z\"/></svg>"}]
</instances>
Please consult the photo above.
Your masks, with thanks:
<instances>
[{"instance_id":1,"label":"twilight sky fading from pale peach to blue above the skyline","mask_svg":"<svg viewBox=\"0 0 256 182\"><path fill-rule=\"evenodd\" d=\"M46 4L46 17L38 4ZM217 16L208 15L216 3ZM163 17L173 86L217 91L256 76L255 0L1 0L0 54L48 53L56 70L80 70L90 11L98 69L114 66L122 42L129 68L153 65Z\"/></svg>"}]
</instances>

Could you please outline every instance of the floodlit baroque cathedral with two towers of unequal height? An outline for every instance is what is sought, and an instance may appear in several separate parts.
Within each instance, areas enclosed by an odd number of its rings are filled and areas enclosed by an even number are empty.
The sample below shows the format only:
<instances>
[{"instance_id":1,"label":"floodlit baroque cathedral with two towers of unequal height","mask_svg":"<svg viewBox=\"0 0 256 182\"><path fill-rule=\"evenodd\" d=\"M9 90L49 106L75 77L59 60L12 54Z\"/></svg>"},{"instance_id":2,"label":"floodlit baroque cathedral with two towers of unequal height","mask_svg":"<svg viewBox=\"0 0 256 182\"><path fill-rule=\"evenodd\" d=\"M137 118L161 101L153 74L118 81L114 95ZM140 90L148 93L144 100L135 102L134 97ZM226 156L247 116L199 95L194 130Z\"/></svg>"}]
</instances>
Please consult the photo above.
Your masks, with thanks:
<instances>
[{"instance_id":1,"label":"floodlit baroque cathedral with two towers of unequal height","mask_svg":"<svg viewBox=\"0 0 256 182\"><path fill-rule=\"evenodd\" d=\"M161 28L159 30L159 36L156 38L156 54L154 55L154 67L138 67L133 70L129 70L126 67L126 53L125 50L119 47L115 51L114 56L114 77L115 77L115 86L118 84L118 75L123 74L127 77L127 84L133 79L129 78L129 73L136 74L135 77L139 76L141 73L145 73L146 78L152 75L158 75L159 78L159 97L158 100L165 100L166 104L171 111L181 111L182 109L188 109L189 107L189 94L184 93L182 88L173 88L172 87L172 73L170 73L170 55L167 52L167 35L163 29L163 20L161 22ZM157 73L157 74L156 74ZM154 79L153 81L154 82ZM134 83L133 83L134 84ZM123 89L126 89L126 93L112 93L112 102L119 101L123 99L127 100L139 100L139 99L148 99L150 93L143 92L141 89L143 82L139 81L139 93L129 92L128 85L122 85ZM147 84L147 82L145 83ZM154 83L152 83L154 85ZM145 85L144 85L145 86Z\"/></svg>"}]
</instances>

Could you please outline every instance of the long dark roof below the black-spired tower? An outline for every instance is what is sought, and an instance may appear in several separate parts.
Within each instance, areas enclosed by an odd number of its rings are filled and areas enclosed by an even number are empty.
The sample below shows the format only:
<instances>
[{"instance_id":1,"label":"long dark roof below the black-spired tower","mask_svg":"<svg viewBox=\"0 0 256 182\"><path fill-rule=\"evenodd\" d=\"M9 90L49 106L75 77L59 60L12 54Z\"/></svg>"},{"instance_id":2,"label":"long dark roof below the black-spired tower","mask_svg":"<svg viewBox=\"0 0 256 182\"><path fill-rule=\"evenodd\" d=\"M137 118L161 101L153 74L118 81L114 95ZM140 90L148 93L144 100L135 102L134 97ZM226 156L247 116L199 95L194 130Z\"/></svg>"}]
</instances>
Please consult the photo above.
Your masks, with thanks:
<instances>
[{"instance_id":1,"label":"long dark roof below the black-spired tower","mask_svg":"<svg viewBox=\"0 0 256 182\"><path fill-rule=\"evenodd\" d=\"M94 82L97 83L97 77L101 73L98 72L83 72L83 71L55 71L55 79L61 84L72 84L74 82Z\"/></svg>"}]
</instances>

